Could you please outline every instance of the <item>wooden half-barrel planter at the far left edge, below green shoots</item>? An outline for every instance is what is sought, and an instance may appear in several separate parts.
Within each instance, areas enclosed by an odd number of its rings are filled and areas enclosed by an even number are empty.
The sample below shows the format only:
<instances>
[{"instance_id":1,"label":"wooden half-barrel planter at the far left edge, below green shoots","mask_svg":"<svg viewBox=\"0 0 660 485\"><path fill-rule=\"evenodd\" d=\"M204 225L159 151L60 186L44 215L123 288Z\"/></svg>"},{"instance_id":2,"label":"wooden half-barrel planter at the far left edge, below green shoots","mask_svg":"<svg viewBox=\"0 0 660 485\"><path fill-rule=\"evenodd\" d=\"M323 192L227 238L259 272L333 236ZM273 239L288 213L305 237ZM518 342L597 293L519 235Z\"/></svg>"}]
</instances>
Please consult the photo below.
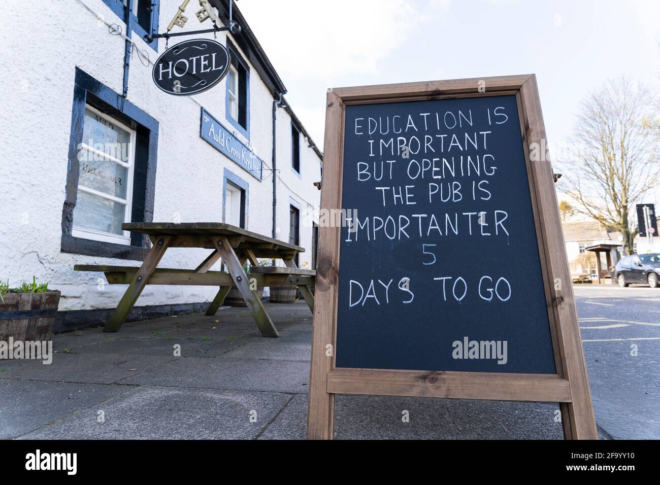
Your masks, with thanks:
<instances>
[{"instance_id":1,"label":"wooden half-barrel planter at the far left edge, below green shoots","mask_svg":"<svg viewBox=\"0 0 660 485\"><path fill-rule=\"evenodd\" d=\"M3 293L0 300L0 340L44 341L53 337L60 292Z\"/></svg>"}]
</instances>

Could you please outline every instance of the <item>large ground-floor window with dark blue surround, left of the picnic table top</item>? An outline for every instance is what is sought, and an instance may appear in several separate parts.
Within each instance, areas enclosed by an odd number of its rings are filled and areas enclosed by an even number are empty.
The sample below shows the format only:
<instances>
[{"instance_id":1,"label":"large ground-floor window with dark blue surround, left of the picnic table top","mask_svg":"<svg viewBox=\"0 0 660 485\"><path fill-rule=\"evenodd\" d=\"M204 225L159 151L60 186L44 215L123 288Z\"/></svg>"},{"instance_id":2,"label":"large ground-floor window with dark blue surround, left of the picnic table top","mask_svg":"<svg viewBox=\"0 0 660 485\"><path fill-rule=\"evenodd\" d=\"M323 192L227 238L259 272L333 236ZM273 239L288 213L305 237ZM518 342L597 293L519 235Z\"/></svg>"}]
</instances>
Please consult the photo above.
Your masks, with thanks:
<instances>
[{"instance_id":1,"label":"large ground-floor window with dark blue surround, left of the picnic table top","mask_svg":"<svg viewBox=\"0 0 660 485\"><path fill-rule=\"evenodd\" d=\"M149 238L121 230L151 222L158 121L76 68L61 251L145 257Z\"/></svg>"}]
</instances>

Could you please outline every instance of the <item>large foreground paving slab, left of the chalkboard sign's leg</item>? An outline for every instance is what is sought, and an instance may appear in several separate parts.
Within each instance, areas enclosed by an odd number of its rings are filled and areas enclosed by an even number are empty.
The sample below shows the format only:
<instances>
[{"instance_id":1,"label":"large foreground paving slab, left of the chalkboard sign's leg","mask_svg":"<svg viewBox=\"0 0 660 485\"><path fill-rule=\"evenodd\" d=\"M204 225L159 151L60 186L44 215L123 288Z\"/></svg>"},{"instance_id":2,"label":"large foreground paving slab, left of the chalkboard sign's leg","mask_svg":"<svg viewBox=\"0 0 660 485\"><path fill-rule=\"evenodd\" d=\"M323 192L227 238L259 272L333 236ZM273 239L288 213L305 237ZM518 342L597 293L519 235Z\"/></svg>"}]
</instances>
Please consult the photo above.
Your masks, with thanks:
<instances>
[{"instance_id":1,"label":"large foreground paving slab, left of the chalkboard sign's leg","mask_svg":"<svg viewBox=\"0 0 660 485\"><path fill-rule=\"evenodd\" d=\"M291 398L284 393L139 386L20 438L252 439Z\"/></svg>"}]
</instances>

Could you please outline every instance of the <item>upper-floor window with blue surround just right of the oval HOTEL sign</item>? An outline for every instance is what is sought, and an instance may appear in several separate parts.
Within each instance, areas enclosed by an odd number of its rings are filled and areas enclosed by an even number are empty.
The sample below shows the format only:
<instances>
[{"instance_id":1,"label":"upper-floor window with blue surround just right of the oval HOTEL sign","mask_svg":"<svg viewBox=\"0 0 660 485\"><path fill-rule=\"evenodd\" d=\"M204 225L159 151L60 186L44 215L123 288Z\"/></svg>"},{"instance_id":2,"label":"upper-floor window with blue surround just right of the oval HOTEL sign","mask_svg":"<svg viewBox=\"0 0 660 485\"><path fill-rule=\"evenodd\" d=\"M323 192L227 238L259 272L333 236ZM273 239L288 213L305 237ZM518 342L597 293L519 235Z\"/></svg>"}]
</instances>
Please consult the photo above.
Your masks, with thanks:
<instances>
[{"instance_id":1,"label":"upper-floor window with blue surround just right of the oval HOTEL sign","mask_svg":"<svg viewBox=\"0 0 660 485\"><path fill-rule=\"evenodd\" d=\"M226 118L249 139L249 66L234 44L227 40L232 63L226 78Z\"/></svg>"}]
</instances>

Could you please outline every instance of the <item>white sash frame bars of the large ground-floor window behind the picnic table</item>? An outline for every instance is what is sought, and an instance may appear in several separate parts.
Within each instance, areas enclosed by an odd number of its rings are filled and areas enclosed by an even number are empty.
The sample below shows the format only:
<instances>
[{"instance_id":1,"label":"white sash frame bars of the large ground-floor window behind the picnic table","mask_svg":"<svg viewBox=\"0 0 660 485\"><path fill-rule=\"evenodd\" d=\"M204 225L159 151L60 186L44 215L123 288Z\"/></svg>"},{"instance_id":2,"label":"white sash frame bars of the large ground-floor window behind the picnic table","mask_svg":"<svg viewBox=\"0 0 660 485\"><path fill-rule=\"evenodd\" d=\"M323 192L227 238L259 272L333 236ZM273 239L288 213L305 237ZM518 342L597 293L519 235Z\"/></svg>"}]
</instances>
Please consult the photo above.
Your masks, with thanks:
<instances>
[{"instance_id":1,"label":"white sash frame bars of the large ground-floor window behind the picnic table","mask_svg":"<svg viewBox=\"0 0 660 485\"><path fill-rule=\"evenodd\" d=\"M99 117L105 119L108 121L108 123L112 123L116 125L117 127L127 131L131 137L129 139L129 153L128 153L128 162L123 162L122 160L119 160L118 158L115 158L114 156L110 156L104 152L100 152L96 149L94 149L92 146L87 145L84 143L84 141L81 143L81 149L82 150L89 150L93 154L99 154L106 158L106 160L110 162L114 162L117 165L121 165L125 167L127 170L127 184L126 184L126 199L121 199L119 197L116 197L114 195L110 195L104 192L100 192L98 190L90 189L89 187L85 187L84 185L80 185L80 176L78 179L78 191L79 192L84 192L88 193L91 195L98 195L98 197L102 197L103 199L108 199L110 201L114 201L117 203L120 203L124 205L124 222L131 222L131 209L133 206L133 169L135 168L135 137L136 137L136 132L134 129L131 127L128 127L127 125L124 125L123 123L117 121L114 117L111 117L109 115L106 115L105 113L100 112L93 106L90 106L89 104L85 105L85 108L90 110L93 113L96 113ZM83 121L84 123L84 117ZM129 231L122 231L123 234L112 234L110 232L103 232L103 231L97 231L93 229L87 229L87 228L81 228L77 227L75 225L75 218L73 219L73 229L71 231L71 236L75 238L84 238L84 239L90 239L94 241L102 241L102 242L110 242L110 243L116 243L116 244L124 244L124 245L130 245L131 244L131 233Z\"/></svg>"}]
</instances>

